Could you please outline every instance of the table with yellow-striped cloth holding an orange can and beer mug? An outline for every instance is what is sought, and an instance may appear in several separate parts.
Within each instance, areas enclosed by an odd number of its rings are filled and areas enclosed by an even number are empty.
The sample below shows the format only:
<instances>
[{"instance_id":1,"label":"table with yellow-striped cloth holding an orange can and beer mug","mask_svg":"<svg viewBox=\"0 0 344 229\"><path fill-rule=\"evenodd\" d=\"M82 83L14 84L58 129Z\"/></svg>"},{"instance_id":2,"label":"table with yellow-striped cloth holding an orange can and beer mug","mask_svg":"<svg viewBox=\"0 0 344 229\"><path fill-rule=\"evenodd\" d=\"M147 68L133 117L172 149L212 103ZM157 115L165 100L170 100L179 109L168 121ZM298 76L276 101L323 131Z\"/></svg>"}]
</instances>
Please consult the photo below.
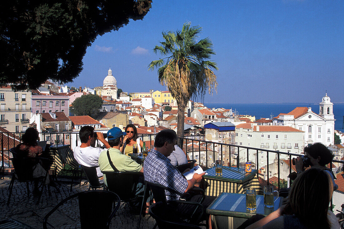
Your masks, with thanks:
<instances>
[{"instance_id":1,"label":"table with yellow-striped cloth holding an orange can and beer mug","mask_svg":"<svg viewBox=\"0 0 344 229\"><path fill-rule=\"evenodd\" d=\"M251 173L241 174L239 168L223 166L222 176L215 176L215 169L206 170L204 175L209 186L205 187L205 195L218 196L221 192L245 193L246 188L255 188L257 194L263 194L263 190L256 176L257 170Z\"/></svg>"}]
</instances>

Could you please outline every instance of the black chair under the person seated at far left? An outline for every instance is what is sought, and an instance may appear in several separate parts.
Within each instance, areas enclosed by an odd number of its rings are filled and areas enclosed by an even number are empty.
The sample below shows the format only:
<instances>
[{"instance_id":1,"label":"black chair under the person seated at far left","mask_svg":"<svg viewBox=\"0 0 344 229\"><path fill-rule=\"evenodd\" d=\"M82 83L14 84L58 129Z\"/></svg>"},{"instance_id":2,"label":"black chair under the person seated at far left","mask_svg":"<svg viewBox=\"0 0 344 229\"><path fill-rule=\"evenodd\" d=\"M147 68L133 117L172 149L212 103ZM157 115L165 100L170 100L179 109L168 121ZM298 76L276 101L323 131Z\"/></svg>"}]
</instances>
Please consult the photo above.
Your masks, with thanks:
<instances>
[{"instance_id":1,"label":"black chair under the person seated at far left","mask_svg":"<svg viewBox=\"0 0 344 229\"><path fill-rule=\"evenodd\" d=\"M40 157L17 157L17 158L10 158L10 160L12 161L12 164L14 167L14 173L13 173L13 176L12 176L12 179L10 182L10 186L9 186L10 193L8 195L7 205L10 204L14 180L18 180L19 182L26 182L28 197L30 197L29 181L39 180L42 178L43 179L42 184L41 184L42 188L41 188L41 191L39 194L39 198L37 200L37 204L38 204L41 200L43 188L45 186L45 180L49 176L49 173L48 173L48 170L46 170L45 176L34 178L33 177L33 170L34 170L34 166L36 164L38 164L40 162L40 160L42 162L44 162L44 161L49 162L49 159L40 158ZM49 192L49 196L50 196L51 193L50 193L49 186L48 186L48 192Z\"/></svg>"}]
</instances>

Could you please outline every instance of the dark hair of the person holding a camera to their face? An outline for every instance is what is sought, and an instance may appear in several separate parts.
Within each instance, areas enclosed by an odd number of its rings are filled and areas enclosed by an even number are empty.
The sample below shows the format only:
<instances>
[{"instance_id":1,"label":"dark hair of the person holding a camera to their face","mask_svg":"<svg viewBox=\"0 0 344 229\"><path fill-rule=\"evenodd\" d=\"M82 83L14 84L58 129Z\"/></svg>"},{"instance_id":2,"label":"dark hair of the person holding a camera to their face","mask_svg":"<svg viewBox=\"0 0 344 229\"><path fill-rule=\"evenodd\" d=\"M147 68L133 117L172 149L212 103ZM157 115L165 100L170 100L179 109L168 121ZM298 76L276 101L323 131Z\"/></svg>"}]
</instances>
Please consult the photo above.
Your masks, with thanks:
<instances>
[{"instance_id":1,"label":"dark hair of the person holding a camera to their face","mask_svg":"<svg viewBox=\"0 0 344 229\"><path fill-rule=\"evenodd\" d=\"M320 157L319 165L321 166L329 164L334 157L331 150L320 142L304 147L304 153L308 153L313 158Z\"/></svg>"}]
</instances>

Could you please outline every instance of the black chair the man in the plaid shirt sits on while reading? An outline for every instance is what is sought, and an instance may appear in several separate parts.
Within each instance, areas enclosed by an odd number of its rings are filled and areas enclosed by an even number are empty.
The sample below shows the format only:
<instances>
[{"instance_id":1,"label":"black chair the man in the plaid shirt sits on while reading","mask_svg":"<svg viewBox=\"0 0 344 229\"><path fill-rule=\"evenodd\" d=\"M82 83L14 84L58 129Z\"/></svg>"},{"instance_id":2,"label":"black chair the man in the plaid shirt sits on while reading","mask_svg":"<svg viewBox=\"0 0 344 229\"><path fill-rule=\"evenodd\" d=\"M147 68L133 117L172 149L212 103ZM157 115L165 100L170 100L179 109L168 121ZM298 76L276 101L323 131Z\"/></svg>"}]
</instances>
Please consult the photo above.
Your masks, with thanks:
<instances>
[{"instance_id":1,"label":"black chair the man in the plaid shirt sits on while reading","mask_svg":"<svg viewBox=\"0 0 344 229\"><path fill-rule=\"evenodd\" d=\"M161 202L166 207L166 209L169 209L169 210L174 209L173 215L176 217L179 217L181 220L186 220L184 222L196 225L200 221L202 216L205 214L204 207L201 204L205 198L205 193L202 189L193 188L189 191L189 193L188 192L187 193L179 193L179 192L177 192L171 188L165 187L163 185L154 184L154 183L151 183L148 181L146 181L146 183L150 186L155 201ZM170 191L174 194L178 194L181 196L181 198L187 198L187 195L190 195L190 192L201 194L202 198L201 198L200 202L185 201L185 200L166 200L165 190ZM195 205L196 208L190 216L185 216L183 214L178 213L178 211L176 210L176 204ZM200 209L201 214L199 214L198 217L196 217L196 213L198 212L198 209ZM166 212L168 212L168 211L166 211ZM157 221L157 223L158 223L158 221ZM157 226L157 223L154 225L153 229ZM161 227L159 227L159 228L161 228ZM164 227L162 227L162 228L164 228Z\"/></svg>"}]
</instances>

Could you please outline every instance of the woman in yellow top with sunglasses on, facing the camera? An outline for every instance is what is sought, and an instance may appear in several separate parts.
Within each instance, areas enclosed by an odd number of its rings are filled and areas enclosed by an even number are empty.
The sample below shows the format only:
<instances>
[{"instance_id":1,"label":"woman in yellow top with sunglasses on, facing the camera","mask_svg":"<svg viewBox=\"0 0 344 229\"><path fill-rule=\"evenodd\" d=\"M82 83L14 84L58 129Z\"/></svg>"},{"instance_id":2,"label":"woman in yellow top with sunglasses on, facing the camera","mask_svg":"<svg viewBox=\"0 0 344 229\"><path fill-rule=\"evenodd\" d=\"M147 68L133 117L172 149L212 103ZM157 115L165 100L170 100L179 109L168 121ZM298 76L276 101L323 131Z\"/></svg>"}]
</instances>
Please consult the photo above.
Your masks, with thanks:
<instances>
[{"instance_id":1,"label":"woman in yellow top with sunglasses on, facing the camera","mask_svg":"<svg viewBox=\"0 0 344 229\"><path fill-rule=\"evenodd\" d=\"M132 146L138 145L138 152L141 153L141 147L143 146L143 141L137 135L136 126L133 124L128 124L125 128L127 133L123 139L123 146L119 149L123 154L127 155L132 153Z\"/></svg>"}]
</instances>

